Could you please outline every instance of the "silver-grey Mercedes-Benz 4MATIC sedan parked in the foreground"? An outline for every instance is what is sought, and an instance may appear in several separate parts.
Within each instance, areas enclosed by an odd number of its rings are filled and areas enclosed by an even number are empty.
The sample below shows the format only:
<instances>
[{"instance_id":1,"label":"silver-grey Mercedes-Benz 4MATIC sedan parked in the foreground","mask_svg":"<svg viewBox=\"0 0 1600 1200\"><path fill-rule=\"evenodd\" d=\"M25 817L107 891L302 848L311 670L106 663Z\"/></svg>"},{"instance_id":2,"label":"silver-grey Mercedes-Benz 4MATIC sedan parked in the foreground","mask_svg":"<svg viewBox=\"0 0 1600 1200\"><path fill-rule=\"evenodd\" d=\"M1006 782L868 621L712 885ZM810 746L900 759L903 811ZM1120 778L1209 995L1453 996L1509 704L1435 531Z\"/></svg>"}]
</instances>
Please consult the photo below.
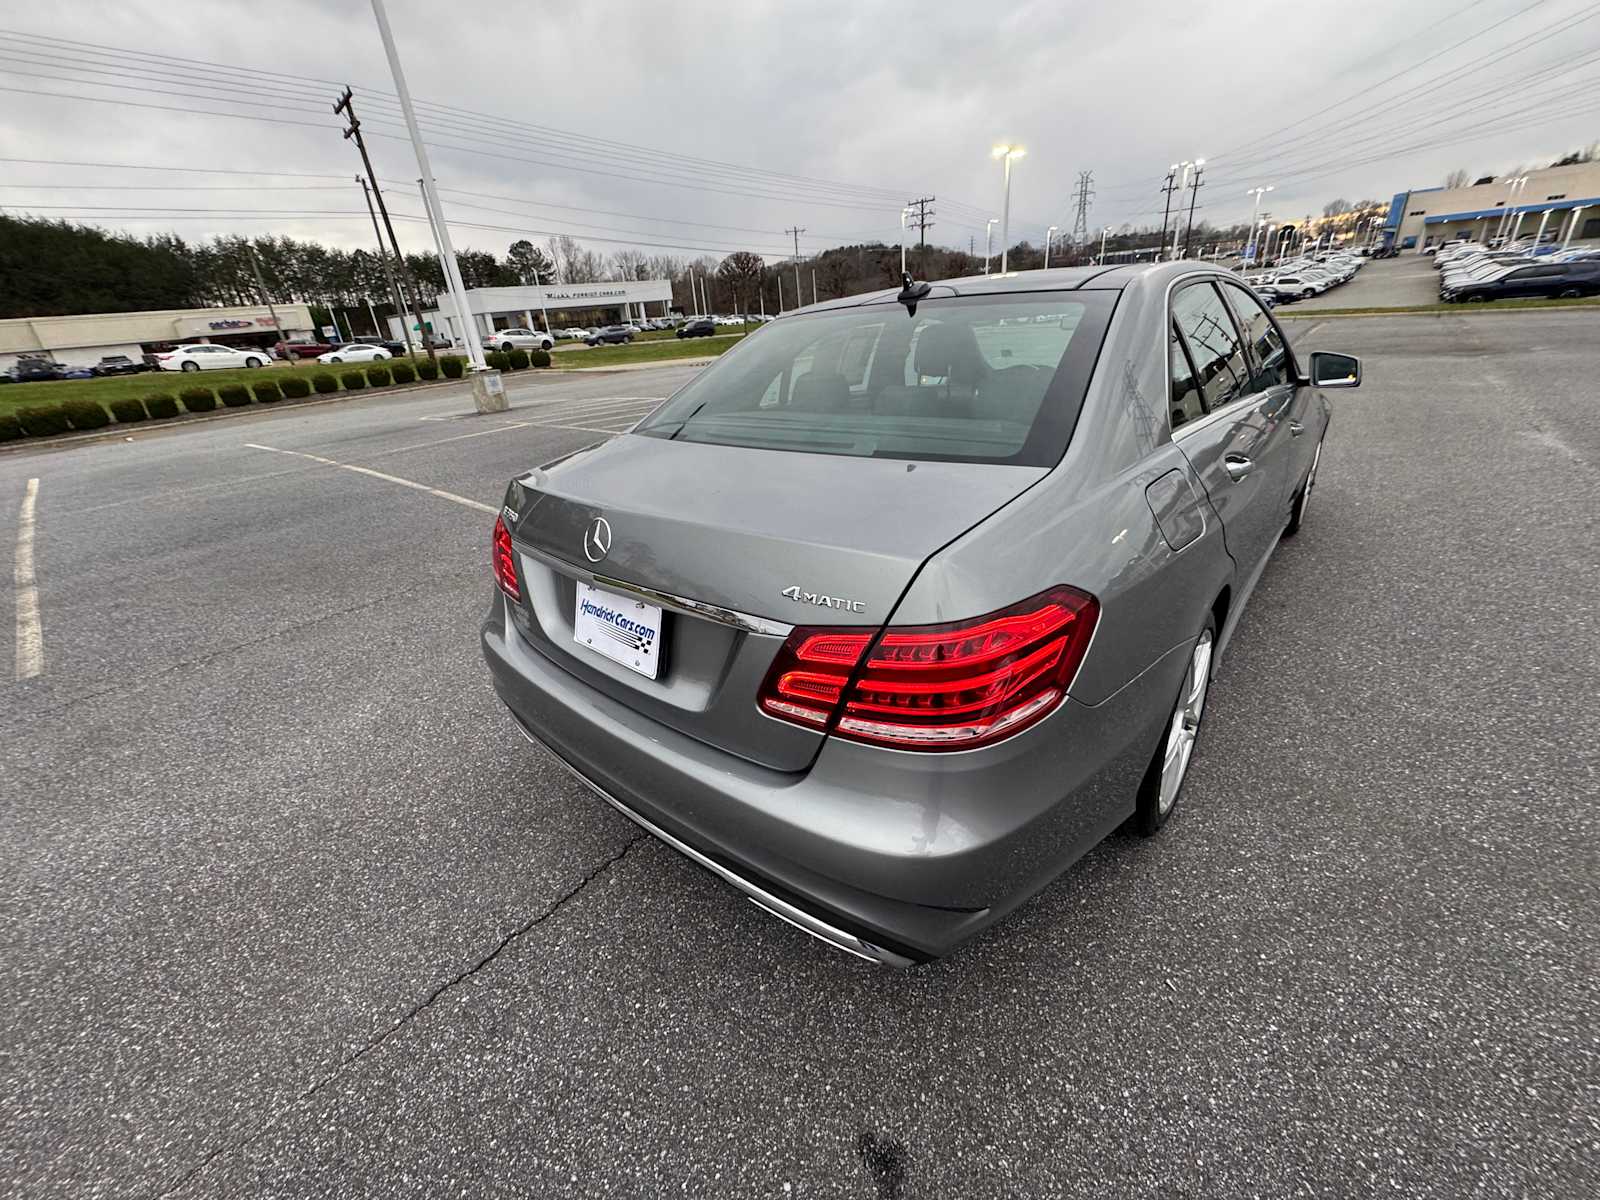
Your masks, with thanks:
<instances>
[{"instance_id":1,"label":"silver-grey Mercedes-Benz 4MATIC sedan parked in the foreground","mask_svg":"<svg viewBox=\"0 0 1600 1200\"><path fill-rule=\"evenodd\" d=\"M906 965L1173 813L1360 363L1194 264L781 317L512 480L483 624L523 733L762 907Z\"/></svg>"}]
</instances>

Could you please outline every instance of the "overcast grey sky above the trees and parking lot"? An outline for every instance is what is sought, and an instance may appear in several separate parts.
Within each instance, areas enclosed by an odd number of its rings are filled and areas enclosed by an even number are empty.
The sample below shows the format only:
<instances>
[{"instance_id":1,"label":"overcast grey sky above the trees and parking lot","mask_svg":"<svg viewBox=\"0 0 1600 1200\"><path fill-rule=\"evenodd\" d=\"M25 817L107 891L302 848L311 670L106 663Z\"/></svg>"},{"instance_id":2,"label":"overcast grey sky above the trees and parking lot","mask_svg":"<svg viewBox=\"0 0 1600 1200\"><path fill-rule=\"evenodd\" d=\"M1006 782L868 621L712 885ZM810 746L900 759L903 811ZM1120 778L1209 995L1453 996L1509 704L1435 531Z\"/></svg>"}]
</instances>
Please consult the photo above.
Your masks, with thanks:
<instances>
[{"instance_id":1,"label":"overcast grey sky above the trees and parking lot","mask_svg":"<svg viewBox=\"0 0 1600 1200\"><path fill-rule=\"evenodd\" d=\"M792 226L802 251L893 243L920 195L936 197L930 240L982 253L984 219L1000 214L995 141L1027 146L1011 230L1037 243L1048 224L1070 230L1086 170L1098 235L1160 224L1162 176L1186 158L1208 160L1200 211L1226 224L1248 218L1256 184L1286 219L1600 139L1594 0L390 0L389 13L413 94L454 109L422 117L456 245L494 253L568 232L600 251L778 256ZM390 206L422 211L366 0L58 0L8 6L3 24L0 157L218 171L5 162L5 211L368 245L355 147L328 107L344 80ZM430 245L418 221L400 238Z\"/></svg>"}]
</instances>

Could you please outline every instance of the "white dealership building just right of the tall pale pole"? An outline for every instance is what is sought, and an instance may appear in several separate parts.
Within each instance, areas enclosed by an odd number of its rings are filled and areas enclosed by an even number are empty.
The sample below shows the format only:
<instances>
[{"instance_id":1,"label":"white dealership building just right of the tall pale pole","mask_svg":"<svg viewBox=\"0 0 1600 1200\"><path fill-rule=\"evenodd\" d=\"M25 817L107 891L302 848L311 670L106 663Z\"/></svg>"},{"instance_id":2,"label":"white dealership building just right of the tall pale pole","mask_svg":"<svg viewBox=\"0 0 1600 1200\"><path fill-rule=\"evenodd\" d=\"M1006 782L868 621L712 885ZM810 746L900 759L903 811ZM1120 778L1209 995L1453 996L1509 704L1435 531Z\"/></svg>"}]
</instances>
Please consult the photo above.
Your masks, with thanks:
<instances>
[{"instance_id":1,"label":"white dealership building just right of the tall pale pole","mask_svg":"<svg viewBox=\"0 0 1600 1200\"><path fill-rule=\"evenodd\" d=\"M651 310L646 306L659 306ZM614 280L605 283L549 283L534 288L469 288L467 309L478 338L494 330L563 330L590 325L621 325L640 317L666 317L672 307L672 280ZM440 296L422 314L434 333L446 334L458 346L462 339L456 304ZM389 333L405 338L403 323L390 317Z\"/></svg>"}]
</instances>

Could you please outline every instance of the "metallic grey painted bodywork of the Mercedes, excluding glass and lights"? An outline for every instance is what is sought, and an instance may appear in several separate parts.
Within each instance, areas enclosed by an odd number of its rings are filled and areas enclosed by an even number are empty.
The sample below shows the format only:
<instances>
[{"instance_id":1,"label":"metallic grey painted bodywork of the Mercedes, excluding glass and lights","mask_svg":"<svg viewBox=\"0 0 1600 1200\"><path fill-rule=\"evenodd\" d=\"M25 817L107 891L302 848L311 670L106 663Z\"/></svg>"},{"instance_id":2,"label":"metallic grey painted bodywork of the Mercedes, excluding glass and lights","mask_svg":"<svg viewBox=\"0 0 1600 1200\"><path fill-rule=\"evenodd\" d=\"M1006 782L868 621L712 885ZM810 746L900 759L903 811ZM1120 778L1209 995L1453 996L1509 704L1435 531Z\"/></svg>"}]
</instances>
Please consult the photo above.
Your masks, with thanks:
<instances>
[{"instance_id":1,"label":"metallic grey painted bodywork of the Mercedes, excluding glass and lights","mask_svg":"<svg viewBox=\"0 0 1600 1200\"><path fill-rule=\"evenodd\" d=\"M1226 277L1163 264L934 285L1115 293L1050 470L624 435L530 472L506 509L528 595L496 592L483 626L498 693L608 800L786 920L883 962L947 952L1133 813L1197 634L1214 616L1226 645L1326 429L1326 400L1301 379L1173 437L1170 298L1211 278ZM859 306L893 312L894 293L816 307ZM1224 467L1242 446L1250 486ZM614 531L598 566L581 550L597 515ZM573 645L573 581L597 573L666 597L659 680ZM798 611L790 584L866 613ZM1096 595L1099 624L1067 699L1011 738L907 752L755 706L790 624L942 622L1056 584Z\"/></svg>"}]
</instances>

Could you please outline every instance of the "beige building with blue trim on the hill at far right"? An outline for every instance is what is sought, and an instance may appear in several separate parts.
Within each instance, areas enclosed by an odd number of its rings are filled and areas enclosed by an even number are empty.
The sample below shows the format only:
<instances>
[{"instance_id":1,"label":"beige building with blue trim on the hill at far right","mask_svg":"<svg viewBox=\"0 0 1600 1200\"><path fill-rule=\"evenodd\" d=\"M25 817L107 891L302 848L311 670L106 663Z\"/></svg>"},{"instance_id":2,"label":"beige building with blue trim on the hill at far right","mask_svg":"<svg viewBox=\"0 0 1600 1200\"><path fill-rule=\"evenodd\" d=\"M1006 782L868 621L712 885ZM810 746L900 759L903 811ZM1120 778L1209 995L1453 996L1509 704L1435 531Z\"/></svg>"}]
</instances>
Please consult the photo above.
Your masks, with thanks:
<instances>
[{"instance_id":1,"label":"beige building with blue trim on the hill at far right","mask_svg":"<svg viewBox=\"0 0 1600 1200\"><path fill-rule=\"evenodd\" d=\"M1600 245L1600 162L1549 166L1467 187L1397 192L1382 227L1384 245L1400 251L1422 251L1456 238L1488 242L1501 234Z\"/></svg>"}]
</instances>

